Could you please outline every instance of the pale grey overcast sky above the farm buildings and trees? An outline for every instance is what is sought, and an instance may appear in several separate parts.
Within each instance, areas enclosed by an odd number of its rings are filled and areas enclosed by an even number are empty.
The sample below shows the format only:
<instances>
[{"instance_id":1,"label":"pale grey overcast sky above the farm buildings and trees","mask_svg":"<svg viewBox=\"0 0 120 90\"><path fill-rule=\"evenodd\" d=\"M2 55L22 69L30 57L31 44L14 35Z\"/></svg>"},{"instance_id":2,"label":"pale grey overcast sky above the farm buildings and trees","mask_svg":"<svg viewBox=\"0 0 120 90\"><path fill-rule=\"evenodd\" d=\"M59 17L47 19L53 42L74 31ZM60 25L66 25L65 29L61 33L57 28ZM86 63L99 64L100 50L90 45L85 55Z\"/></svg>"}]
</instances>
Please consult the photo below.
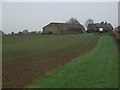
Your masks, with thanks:
<instances>
[{"instance_id":1,"label":"pale grey overcast sky above the farm buildings and trees","mask_svg":"<svg viewBox=\"0 0 120 90\"><path fill-rule=\"evenodd\" d=\"M91 18L94 22L107 21L115 26L118 24L118 3L2 2L2 30L5 33L25 29L39 31L50 22L66 22L71 17L83 25Z\"/></svg>"}]
</instances>

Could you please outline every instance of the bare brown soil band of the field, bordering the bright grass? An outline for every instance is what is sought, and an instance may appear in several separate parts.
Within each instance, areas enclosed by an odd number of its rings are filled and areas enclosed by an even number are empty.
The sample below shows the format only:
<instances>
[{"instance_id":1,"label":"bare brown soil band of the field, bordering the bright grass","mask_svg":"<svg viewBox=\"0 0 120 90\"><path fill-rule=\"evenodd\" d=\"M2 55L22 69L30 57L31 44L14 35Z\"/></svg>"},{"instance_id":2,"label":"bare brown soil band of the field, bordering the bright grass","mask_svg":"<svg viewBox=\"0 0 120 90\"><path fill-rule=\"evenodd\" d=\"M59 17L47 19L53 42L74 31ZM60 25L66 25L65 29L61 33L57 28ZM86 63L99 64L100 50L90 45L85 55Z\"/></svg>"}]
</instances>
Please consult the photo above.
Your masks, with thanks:
<instances>
[{"instance_id":1,"label":"bare brown soil band of the field, bordering the bright grass","mask_svg":"<svg viewBox=\"0 0 120 90\"><path fill-rule=\"evenodd\" d=\"M23 88L50 70L64 65L71 59L90 51L97 44L97 41L98 38L89 40L84 44L82 50L76 49L66 54L60 55L56 52L36 60L30 58L29 60L22 59L18 62L3 64L3 88Z\"/></svg>"}]
</instances>

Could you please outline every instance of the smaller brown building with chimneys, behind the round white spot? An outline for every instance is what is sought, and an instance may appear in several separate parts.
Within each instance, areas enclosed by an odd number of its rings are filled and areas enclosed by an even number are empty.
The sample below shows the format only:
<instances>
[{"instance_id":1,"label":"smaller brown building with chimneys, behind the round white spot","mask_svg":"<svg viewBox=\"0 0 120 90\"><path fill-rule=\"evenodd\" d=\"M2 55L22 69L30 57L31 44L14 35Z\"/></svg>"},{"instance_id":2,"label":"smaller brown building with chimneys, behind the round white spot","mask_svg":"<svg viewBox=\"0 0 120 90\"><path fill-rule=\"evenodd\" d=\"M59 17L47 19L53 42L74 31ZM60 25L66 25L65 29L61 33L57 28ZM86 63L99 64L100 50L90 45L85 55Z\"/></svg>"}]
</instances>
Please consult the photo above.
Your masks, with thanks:
<instances>
[{"instance_id":1,"label":"smaller brown building with chimneys, behind the round white spot","mask_svg":"<svg viewBox=\"0 0 120 90\"><path fill-rule=\"evenodd\" d=\"M101 23L89 24L87 27L87 31L88 32L99 32L99 28L103 28L104 32L109 32L113 30L113 27L110 23L101 22Z\"/></svg>"}]
</instances>

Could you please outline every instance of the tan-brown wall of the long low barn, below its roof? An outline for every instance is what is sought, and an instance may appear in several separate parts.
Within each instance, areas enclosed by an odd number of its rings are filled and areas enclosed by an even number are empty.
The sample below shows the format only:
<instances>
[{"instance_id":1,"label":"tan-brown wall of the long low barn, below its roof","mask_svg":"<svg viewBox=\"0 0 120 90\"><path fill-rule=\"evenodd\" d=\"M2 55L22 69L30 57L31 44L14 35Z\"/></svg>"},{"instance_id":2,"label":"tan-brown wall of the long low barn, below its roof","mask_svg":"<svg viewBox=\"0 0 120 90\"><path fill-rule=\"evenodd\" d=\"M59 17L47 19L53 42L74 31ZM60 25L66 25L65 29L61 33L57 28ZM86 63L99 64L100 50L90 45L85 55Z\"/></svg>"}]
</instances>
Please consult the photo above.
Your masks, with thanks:
<instances>
[{"instance_id":1,"label":"tan-brown wall of the long low barn, below its roof","mask_svg":"<svg viewBox=\"0 0 120 90\"><path fill-rule=\"evenodd\" d=\"M80 33L82 26L66 25L66 24L49 24L43 28L43 33L49 34L69 34L69 33Z\"/></svg>"}]
</instances>

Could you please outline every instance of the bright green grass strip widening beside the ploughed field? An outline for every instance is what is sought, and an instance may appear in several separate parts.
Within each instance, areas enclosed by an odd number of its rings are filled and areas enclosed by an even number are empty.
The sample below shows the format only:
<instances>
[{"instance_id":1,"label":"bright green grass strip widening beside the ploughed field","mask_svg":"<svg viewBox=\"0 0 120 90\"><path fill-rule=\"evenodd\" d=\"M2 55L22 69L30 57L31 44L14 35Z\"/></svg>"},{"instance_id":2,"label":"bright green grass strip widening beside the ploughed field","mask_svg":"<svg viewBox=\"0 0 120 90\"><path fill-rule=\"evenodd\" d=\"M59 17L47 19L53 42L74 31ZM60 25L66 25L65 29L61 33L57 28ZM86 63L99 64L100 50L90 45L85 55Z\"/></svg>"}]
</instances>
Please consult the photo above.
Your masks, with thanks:
<instances>
[{"instance_id":1,"label":"bright green grass strip widening beside the ploughed field","mask_svg":"<svg viewBox=\"0 0 120 90\"><path fill-rule=\"evenodd\" d=\"M113 38L109 35L100 36L91 52L75 58L43 79L33 81L28 87L117 88L118 51Z\"/></svg>"}]
</instances>

